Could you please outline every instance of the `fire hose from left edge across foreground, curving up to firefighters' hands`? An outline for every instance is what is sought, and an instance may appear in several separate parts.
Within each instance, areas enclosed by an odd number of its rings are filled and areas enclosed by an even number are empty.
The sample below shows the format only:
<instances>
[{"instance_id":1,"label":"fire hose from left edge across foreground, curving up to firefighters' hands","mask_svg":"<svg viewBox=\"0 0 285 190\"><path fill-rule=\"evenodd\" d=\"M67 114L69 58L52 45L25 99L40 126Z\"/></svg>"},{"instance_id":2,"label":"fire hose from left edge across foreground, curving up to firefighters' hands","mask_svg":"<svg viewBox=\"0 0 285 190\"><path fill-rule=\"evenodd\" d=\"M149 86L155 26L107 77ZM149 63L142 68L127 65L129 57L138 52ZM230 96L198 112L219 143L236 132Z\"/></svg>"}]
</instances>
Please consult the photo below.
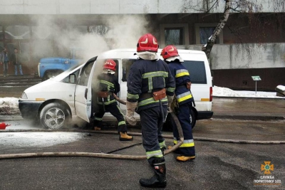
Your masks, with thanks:
<instances>
[{"instance_id":1,"label":"fire hose from left edge across foreground, curving up to firefighters' hands","mask_svg":"<svg viewBox=\"0 0 285 190\"><path fill-rule=\"evenodd\" d=\"M113 94L114 95L114 94ZM116 100L120 100L115 96ZM123 100L119 101L125 105ZM184 136L182 128L177 116L171 112L171 116L177 125L178 134L180 140L171 149L166 149L164 154L169 154L175 151L178 147L183 144ZM118 134L118 133L117 133ZM14 158L28 158L28 157L100 157L109 159L147 159L146 155L136 156L136 155L123 155L123 154L105 154L105 153L93 153L93 152L36 152L36 153L21 153L21 154L0 154L0 159L14 159Z\"/></svg>"}]
</instances>

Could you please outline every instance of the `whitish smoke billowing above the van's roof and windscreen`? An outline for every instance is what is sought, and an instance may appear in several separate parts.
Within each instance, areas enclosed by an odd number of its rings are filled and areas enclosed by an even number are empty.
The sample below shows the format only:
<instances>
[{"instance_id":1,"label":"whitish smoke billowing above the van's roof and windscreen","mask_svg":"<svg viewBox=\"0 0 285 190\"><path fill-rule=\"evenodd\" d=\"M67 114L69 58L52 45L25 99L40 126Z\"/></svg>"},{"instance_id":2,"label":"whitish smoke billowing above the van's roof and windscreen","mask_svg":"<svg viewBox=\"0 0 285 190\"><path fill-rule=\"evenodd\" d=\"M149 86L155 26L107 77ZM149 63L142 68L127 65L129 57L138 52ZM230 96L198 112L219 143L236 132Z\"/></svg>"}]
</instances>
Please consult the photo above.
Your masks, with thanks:
<instances>
[{"instance_id":1,"label":"whitish smoke billowing above the van's roof and windscreen","mask_svg":"<svg viewBox=\"0 0 285 190\"><path fill-rule=\"evenodd\" d=\"M145 16L111 16L98 21L98 25L81 25L76 16L58 19L56 16L37 16L31 19L33 36L40 39L33 42L33 56L68 57L71 49L78 52L79 58L88 60L114 48L136 48L138 38L149 33ZM90 19L90 23L93 21ZM103 24L102 24L103 23Z\"/></svg>"}]
</instances>

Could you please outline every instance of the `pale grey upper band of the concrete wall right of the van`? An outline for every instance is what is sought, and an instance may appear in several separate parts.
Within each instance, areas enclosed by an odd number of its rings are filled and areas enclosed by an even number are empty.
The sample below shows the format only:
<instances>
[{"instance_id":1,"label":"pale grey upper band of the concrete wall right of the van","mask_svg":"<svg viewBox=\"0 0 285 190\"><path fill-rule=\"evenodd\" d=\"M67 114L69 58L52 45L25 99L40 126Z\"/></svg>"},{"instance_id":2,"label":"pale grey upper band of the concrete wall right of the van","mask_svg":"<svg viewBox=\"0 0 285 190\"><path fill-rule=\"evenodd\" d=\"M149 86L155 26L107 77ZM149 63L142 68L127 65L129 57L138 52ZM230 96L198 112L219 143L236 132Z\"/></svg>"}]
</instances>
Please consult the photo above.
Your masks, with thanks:
<instances>
[{"instance_id":1,"label":"pale grey upper band of the concrete wall right of the van","mask_svg":"<svg viewBox=\"0 0 285 190\"><path fill-rule=\"evenodd\" d=\"M177 46L201 50L202 46ZM239 68L285 68L285 43L215 44L210 59L212 70Z\"/></svg>"}]
</instances>

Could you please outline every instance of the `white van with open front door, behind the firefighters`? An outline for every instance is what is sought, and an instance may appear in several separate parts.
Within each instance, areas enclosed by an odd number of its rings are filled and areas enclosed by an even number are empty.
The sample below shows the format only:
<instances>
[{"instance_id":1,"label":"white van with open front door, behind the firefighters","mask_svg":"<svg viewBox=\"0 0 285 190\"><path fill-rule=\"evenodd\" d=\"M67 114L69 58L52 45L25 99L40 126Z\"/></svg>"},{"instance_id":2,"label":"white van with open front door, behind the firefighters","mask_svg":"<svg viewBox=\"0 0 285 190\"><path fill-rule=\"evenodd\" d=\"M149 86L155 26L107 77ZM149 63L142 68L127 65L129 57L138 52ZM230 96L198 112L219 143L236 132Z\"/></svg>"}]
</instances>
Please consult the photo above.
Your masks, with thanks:
<instances>
[{"instance_id":1,"label":"white van with open front door, behind the firefighters","mask_svg":"<svg viewBox=\"0 0 285 190\"><path fill-rule=\"evenodd\" d=\"M158 55L160 55L160 51L161 49L159 49L157 52ZM96 75L98 75L100 73L100 70L102 70L103 61L110 58L115 60L117 63L116 75L118 75L118 81L120 83L120 93L118 93L118 97L120 97L121 100L126 100L127 82L123 78L124 75L128 73L128 69L132 61L135 61L138 58L135 53L135 49L117 49L107 51L100 54L97 60L93 58L93 60L95 60L95 63L92 63L94 61L90 59L90 62L80 65L76 68L66 70L54 78L27 88L24 90L24 93L19 100L19 109L21 111L22 117L26 119L41 120L42 118L40 117L43 115L43 108L48 104L56 102L57 105L63 105L61 108L63 108L63 110L66 109L65 113L72 115L73 120L76 120L76 117L80 117L82 120L90 122L92 110L91 92L94 90L94 83L98 82L96 81ZM195 81L192 81L191 90L196 104L196 106L193 108L196 114L195 119L201 120L212 117L212 76L210 73L207 57L202 51L178 50L178 53L180 54L180 57L185 60L184 64L186 66L187 63L197 63L197 65L199 65L199 68L197 67L197 70L200 70L202 73L204 73L203 77L199 79L202 82L198 81L198 83L195 83ZM83 84L83 70L88 64L93 64L93 67L90 70L90 75L87 78L88 83L86 82ZM192 73L195 73L193 69L190 70L190 77ZM71 79L74 76L77 77L76 83L71 83ZM197 78L199 78L199 76L200 73L197 73ZM125 105L119 105L123 112L125 112ZM49 114L48 110L46 110L45 113ZM53 113L50 115L51 116L46 119L48 122L51 122L51 120L53 120L53 117L56 117L56 115L53 115ZM140 119L138 114L136 114L135 117L138 120ZM110 115L110 113L105 113L103 120L115 120L115 117ZM57 120L54 119L54 122L56 121ZM53 128L52 126L53 125L51 125L51 128ZM62 125L60 127L62 127Z\"/></svg>"}]
</instances>

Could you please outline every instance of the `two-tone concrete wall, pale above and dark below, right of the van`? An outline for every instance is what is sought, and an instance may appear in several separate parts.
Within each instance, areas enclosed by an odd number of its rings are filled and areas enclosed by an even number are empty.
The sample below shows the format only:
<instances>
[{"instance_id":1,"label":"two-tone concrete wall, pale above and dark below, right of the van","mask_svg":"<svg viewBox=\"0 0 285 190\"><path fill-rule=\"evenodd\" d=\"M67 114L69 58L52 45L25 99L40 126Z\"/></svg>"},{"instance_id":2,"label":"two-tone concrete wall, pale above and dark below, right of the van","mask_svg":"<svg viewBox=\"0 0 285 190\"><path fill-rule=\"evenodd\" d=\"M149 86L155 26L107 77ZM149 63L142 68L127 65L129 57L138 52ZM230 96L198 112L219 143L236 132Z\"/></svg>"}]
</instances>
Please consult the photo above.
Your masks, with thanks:
<instances>
[{"instance_id":1,"label":"two-tone concrete wall, pale above and dark below, right of the van","mask_svg":"<svg viewBox=\"0 0 285 190\"><path fill-rule=\"evenodd\" d=\"M202 46L177 46L201 50ZM210 54L213 84L233 90L255 90L252 76L259 75L257 90L274 92L285 85L285 43L215 44Z\"/></svg>"}]
</instances>

